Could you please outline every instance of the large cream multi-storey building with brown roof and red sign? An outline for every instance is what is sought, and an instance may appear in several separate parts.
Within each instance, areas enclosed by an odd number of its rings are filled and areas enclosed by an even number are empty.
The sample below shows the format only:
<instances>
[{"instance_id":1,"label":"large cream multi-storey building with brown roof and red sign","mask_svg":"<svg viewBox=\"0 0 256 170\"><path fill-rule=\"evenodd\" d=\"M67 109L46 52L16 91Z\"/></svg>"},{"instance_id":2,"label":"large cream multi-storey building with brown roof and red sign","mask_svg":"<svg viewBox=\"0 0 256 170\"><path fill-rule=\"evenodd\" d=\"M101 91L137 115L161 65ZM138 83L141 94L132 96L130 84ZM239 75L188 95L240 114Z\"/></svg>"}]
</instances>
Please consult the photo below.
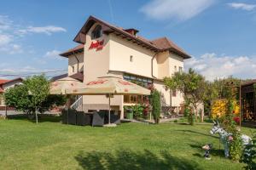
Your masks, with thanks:
<instances>
[{"instance_id":1,"label":"large cream multi-storey building with brown roof and red sign","mask_svg":"<svg viewBox=\"0 0 256 170\"><path fill-rule=\"evenodd\" d=\"M147 40L137 35L134 28L123 29L93 16L85 22L74 42L80 44L61 56L68 58L68 76L90 82L96 77L121 77L145 88L149 85L162 94L161 105L175 106L181 110L183 95L164 85L164 77L183 71L183 60L189 59L182 48L166 37ZM111 99L112 109L121 111L124 105L142 102L143 96L119 95ZM105 96L84 96L84 110L108 109Z\"/></svg>"}]
</instances>

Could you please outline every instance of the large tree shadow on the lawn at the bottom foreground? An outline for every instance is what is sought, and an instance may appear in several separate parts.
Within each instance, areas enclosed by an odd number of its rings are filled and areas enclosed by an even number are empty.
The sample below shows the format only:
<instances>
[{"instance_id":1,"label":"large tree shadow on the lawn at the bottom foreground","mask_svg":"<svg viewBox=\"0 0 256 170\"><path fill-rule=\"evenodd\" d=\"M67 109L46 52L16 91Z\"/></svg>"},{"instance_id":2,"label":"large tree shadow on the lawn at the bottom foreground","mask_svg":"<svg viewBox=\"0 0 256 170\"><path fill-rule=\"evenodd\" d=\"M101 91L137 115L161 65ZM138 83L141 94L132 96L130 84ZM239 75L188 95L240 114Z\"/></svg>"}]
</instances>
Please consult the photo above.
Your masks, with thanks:
<instances>
[{"instance_id":1,"label":"large tree shadow on the lawn at the bottom foreground","mask_svg":"<svg viewBox=\"0 0 256 170\"><path fill-rule=\"evenodd\" d=\"M79 166L88 170L126 170L126 169L200 169L192 160L172 156L163 151L155 155L149 150L131 151L118 150L115 152L80 152L75 159Z\"/></svg>"}]
</instances>

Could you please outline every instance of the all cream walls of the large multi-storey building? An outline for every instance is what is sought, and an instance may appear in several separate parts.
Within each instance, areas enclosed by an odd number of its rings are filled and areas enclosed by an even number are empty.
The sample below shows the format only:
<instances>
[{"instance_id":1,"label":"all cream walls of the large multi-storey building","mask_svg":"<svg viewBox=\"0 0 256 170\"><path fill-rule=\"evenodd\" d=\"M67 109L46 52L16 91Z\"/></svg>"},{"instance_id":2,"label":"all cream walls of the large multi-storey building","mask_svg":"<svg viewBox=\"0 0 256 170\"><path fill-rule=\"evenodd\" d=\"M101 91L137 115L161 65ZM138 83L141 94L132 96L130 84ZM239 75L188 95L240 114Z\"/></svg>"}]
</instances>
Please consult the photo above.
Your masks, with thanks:
<instances>
[{"instance_id":1,"label":"all cream walls of the large multi-storey building","mask_svg":"<svg viewBox=\"0 0 256 170\"><path fill-rule=\"evenodd\" d=\"M174 73L174 65L183 67L183 59L175 54L163 52L155 54L153 51L138 46L136 43L127 41L124 38L117 37L113 34L103 34L102 37L96 39L104 40L103 48L96 50L89 49L91 42L91 31L97 24L90 28L86 35L86 43L84 44L84 65L79 65L79 69L84 69L84 84L95 80L97 77L114 76L123 77L122 72L129 72L131 74L140 75L142 77L151 77L153 79L162 79L164 77L172 76ZM132 61L130 60L132 56ZM79 57L80 60L81 57ZM153 68L152 68L153 59ZM68 73L71 74L72 66L77 65L77 60L74 56L69 59ZM152 77L152 69L153 76ZM75 70L76 71L76 70ZM170 91L167 90L162 81L154 80L154 87L162 94L162 105L170 105ZM117 108L121 111L123 117L123 100L122 95L114 96L111 99L112 108ZM176 97L172 97L172 106L180 106L183 102L183 96L177 93ZM84 110L99 110L108 109L108 98L106 96L98 95L84 95L83 97Z\"/></svg>"}]
</instances>

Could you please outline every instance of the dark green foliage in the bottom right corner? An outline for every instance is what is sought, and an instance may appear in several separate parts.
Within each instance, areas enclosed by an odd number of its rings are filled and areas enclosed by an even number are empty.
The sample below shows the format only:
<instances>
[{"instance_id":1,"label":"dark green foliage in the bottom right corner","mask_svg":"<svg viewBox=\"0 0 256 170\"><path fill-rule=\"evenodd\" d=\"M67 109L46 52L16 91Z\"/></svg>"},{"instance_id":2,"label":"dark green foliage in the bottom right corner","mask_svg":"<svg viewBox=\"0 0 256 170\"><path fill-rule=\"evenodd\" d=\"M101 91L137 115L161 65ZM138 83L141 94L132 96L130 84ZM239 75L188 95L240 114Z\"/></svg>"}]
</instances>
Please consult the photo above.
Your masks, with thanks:
<instances>
[{"instance_id":1,"label":"dark green foliage in the bottom right corner","mask_svg":"<svg viewBox=\"0 0 256 170\"><path fill-rule=\"evenodd\" d=\"M256 169L256 133L253 134L253 143L247 144L242 161L247 164L245 169Z\"/></svg>"}]
</instances>

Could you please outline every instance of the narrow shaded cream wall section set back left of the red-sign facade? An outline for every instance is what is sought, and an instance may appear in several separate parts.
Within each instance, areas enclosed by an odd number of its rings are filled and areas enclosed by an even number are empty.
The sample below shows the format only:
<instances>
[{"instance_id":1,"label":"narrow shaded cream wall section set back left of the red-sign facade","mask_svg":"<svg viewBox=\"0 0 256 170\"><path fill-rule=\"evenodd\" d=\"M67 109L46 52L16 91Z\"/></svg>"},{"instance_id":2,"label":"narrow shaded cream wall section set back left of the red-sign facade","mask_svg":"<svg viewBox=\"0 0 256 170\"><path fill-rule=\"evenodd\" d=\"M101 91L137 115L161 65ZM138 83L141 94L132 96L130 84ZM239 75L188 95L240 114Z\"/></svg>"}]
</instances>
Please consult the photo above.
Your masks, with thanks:
<instances>
[{"instance_id":1,"label":"narrow shaded cream wall section set back left of the red-sign facade","mask_svg":"<svg viewBox=\"0 0 256 170\"><path fill-rule=\"evenodd\" d=\"M84 71L84 53L76 54L79 59L79 71ZM78 71L78 60L75 55L68 56L68 76L71 76Z\"/></svg>"}]
</instances>

